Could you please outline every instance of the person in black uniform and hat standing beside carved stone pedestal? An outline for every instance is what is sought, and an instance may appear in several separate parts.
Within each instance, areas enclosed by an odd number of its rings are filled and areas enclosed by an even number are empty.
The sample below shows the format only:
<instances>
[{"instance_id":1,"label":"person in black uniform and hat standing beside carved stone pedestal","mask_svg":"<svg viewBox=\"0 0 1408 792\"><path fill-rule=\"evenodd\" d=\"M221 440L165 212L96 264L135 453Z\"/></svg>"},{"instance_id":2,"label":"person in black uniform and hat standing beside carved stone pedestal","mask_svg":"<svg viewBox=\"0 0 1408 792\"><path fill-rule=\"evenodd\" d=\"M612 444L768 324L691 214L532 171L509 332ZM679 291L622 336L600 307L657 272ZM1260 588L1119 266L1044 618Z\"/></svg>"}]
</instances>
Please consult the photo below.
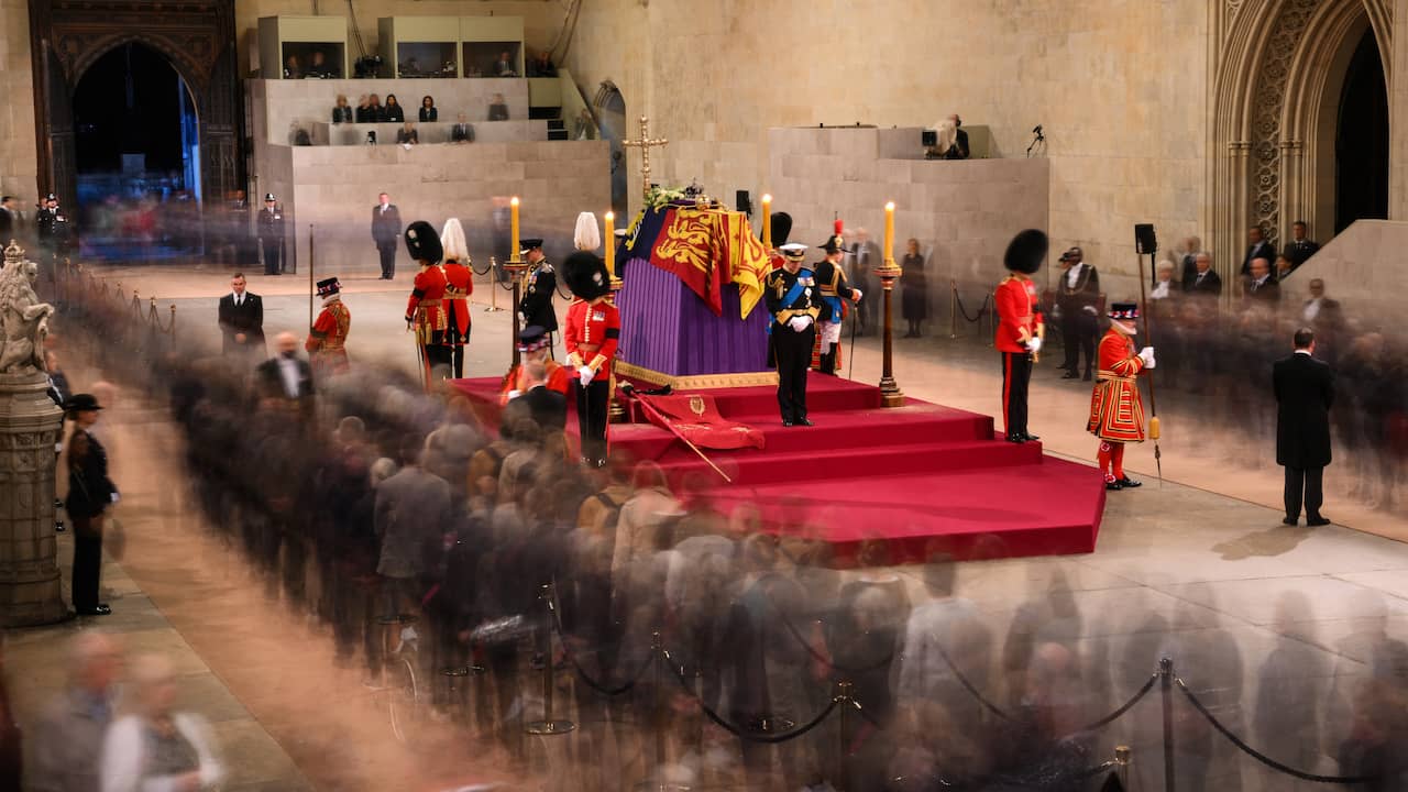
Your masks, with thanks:
<instances>
[{"instance_id":1,"label":"person in black uniform and hat standing beside carved stone pedestal","mask_svg":"<svg viewBox=\"0 0 1408 792\"><path fill-rule=\"evenodd\" d=\"M103 571L103 523L117 503L117 488L107 478L107 451L89 434L103 406L90 393L69 399L68 419L73 421L69 437L69 497L65 510L73 520L73 609L80 616L106 616L113 609L99 602L99 575Z\"/></svg>"}]
</instances>

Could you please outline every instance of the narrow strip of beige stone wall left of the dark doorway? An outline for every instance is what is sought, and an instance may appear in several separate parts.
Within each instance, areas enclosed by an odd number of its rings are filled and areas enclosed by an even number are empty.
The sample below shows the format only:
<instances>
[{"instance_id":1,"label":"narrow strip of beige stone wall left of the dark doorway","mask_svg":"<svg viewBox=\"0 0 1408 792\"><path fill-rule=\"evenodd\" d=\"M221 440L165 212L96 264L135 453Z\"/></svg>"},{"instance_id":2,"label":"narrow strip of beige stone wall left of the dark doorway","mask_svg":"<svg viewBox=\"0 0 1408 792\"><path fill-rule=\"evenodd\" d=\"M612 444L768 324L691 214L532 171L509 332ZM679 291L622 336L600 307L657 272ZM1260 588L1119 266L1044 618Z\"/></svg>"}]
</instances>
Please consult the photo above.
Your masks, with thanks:
<instances>
[{"instance_id":1,"label":"narrow strip of beige stone wall left of the dark doorway","mask_svg":"<svg viewBox=\"0 0 1408 792\"><path fill-rule=\"evenodd\" d=\"M0 73L6 87L6 101L0 103L0 193L20 199L20 209L32 218L38 194L28 0L0 0Z\"/></svg>"}]
</instances>

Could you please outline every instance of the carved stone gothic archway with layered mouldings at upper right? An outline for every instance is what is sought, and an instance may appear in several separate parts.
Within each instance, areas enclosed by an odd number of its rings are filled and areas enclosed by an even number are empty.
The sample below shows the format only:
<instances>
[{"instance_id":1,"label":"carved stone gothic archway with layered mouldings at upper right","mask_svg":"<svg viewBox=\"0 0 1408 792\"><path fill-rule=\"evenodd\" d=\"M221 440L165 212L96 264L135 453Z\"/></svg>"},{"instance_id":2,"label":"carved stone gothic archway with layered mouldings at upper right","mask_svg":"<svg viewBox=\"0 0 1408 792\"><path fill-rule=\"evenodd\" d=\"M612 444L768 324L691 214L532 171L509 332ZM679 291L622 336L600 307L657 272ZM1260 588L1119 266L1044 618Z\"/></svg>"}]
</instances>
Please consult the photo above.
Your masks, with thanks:
<instances>
[{"instance_id":1,"label":"carved stone gothic archway with layered mouldings at upper right","mask_svg":"<svg viewBox=\"0 0 1408 792\"><path fill-rule=\"evenodd\" d=\"M1335 130L1345 73L1367 30L1391 52L1387 0L1212 0L1208 224L1224 276L1250 225L1273 241L1335 221ZM1384 79L1391 82L1385 61Z\"/></svg>"}]
</instances>

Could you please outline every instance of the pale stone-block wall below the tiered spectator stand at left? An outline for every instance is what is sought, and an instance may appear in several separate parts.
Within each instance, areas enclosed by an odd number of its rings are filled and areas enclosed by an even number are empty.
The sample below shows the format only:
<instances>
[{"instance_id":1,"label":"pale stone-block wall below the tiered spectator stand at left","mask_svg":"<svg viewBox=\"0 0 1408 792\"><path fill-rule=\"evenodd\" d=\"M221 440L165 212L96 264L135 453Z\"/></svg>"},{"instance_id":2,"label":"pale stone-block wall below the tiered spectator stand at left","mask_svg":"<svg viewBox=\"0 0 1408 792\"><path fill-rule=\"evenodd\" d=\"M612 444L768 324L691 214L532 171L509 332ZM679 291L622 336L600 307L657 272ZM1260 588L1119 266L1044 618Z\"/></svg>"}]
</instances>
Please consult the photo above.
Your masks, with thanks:
<instances>
[{"instance_id":1,"label":"pale stone-block wall below the tiered spectator stand at left","mask_svg":"<svg viewBox=\"0 0 1408 792\"><path fill-rule=\"evenodd\" d=\"M520 196L524 237L546 240L549 258L572 251L577 213L611 206L610 158L604 141L524 141L473 145L282 147L268 145L260 189L279 186L289 223L290 259L308 255L314 225L317 269L328 275L379 272L372 244L372 207L390 193L401 220L427 220L441 228L459 217L474 265L483 269L494 249L496 197ZM503 261L500 258L500 261ZM401 272L413 265L404 245ZM306 271L301 271L306 272Z\"/></svg>"}]
</instances>

